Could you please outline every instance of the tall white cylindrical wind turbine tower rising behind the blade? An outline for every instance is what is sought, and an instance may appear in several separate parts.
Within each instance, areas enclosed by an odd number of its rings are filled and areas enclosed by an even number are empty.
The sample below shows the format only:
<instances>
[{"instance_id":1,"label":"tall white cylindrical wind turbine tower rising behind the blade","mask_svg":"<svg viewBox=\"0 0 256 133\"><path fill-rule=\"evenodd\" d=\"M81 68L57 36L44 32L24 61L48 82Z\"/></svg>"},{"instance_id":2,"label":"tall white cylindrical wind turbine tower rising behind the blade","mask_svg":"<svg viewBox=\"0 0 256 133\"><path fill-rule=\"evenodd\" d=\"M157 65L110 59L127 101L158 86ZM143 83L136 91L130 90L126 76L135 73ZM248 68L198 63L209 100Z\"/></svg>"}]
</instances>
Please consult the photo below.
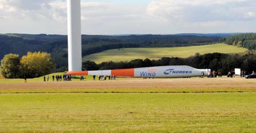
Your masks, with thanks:
<instances>
[{"instance_id":1,"label":"tall white cylindrical wind turbine tower rising behind the blade","mask_svg":"<svg viewBox=\"0 0 256 133\"><path fill-rule=\"evenodd\" d=\"M67 0L68 71L82 70L81 2Z\"/></svg>"}]
</instances>

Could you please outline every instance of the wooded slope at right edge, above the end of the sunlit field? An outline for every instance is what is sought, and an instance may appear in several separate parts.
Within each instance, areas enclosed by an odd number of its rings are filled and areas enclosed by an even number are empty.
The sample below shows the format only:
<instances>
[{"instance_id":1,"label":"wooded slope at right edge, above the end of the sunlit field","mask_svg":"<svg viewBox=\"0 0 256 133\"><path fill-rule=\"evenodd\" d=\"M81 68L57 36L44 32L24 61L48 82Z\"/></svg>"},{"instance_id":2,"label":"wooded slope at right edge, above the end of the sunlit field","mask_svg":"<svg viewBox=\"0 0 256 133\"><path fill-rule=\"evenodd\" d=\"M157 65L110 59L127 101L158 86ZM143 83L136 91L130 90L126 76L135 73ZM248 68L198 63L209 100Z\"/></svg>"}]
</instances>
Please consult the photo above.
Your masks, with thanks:
<instances>
[{"instance_id":1,"label":"wooded slope at right edge, above the end of the sunlit field","mask_svg":"<svg viewBox=\"0 0 256 133\"><path fill-rule=\"evenodd\" d=\"M220 38L220 42L228 45L242 46L249 50L256 50L256 33L246 33Z\"/></svg>"}]
</instances>

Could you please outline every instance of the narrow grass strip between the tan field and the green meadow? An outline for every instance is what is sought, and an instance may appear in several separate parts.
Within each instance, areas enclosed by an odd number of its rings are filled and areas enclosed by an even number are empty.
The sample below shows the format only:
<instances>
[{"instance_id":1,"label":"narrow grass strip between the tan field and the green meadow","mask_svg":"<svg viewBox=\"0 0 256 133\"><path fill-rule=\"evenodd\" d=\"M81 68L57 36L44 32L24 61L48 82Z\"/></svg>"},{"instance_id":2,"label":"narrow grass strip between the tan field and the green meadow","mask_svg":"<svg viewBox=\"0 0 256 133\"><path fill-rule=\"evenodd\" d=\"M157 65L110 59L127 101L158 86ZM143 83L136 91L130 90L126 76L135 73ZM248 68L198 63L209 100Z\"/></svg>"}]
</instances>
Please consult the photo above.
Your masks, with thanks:
<instances>
[{"instance_id":1,"label":"narrow grass strip between the tan field and the green meadow","mask_svg":"<svg viewBox=\"0 0 256 133\"><path fill-rule=\"evenodd\" d=\"M207 93L256 92L256 88L36 88L0 89L0 94L26 93Z\"/></svg>"}]
</instances>

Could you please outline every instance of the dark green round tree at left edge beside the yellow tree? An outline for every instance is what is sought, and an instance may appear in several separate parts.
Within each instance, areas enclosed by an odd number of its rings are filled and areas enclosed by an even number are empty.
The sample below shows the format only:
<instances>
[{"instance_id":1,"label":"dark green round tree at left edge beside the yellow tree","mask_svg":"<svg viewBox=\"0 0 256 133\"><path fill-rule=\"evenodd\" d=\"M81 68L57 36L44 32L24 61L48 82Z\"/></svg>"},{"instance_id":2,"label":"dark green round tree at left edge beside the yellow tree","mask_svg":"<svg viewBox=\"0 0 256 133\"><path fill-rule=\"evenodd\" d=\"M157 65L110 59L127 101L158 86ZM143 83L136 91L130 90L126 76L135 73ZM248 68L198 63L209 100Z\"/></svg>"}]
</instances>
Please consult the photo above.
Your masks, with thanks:
<instances>
[{"instance_id":1,"label":"dark green round tree at left edge beside the yellow tree","mask_svg":"<svg viewBox=\"0 0 256 133\"><path fill-rule=\"evenodd\" d=\"M17 54L6 54L1 61L1 74L5 78L18 78L20 59Z\"/></svg>"}]
</instances>

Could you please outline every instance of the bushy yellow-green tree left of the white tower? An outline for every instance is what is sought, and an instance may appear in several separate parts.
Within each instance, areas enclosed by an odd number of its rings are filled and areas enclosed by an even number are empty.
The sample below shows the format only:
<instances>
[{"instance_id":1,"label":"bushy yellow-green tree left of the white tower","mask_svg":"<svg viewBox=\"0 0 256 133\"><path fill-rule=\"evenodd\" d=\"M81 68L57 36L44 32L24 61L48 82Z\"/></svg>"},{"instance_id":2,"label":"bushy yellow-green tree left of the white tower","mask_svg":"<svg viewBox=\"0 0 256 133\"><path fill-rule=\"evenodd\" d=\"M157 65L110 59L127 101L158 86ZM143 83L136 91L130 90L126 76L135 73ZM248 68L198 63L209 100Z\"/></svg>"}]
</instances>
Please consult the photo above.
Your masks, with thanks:
<instances>
[{"instance_id":1,"label":"bushy yellow-green tree left of the white tower","mask_svg":"<svg viewBox=\"0 0 256 133\"><path fill-rule=\"evenodd\" d=\"M28 78L38 77L51 73L55 64L51 54L45 52L28 52L21 58L21 71Z\"/></svg>"}]
</instances>

